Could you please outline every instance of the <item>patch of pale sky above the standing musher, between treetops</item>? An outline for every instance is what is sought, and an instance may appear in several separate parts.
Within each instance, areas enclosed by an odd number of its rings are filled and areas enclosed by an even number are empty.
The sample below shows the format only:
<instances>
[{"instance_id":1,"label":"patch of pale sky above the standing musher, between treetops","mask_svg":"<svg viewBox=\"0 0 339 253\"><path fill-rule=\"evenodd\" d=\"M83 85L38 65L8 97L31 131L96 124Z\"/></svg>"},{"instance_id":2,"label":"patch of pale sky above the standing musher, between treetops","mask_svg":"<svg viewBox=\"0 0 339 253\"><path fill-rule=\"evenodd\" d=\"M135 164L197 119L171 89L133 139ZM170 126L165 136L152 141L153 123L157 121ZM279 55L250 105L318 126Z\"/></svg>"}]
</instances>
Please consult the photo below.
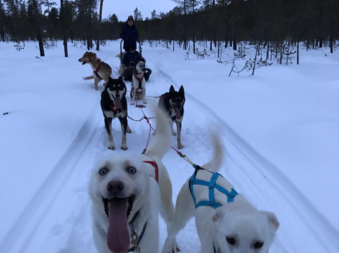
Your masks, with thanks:
<instances>
[{"instance_id":1,"label":"patch of pale sky above the standing musher, between treetops","mask_svg":"<svg viewBox=\"0 0 339 253\"><path fill-rule=\"evenodd\" d=\"M126 21L129 15L134 15L135 8L141 12L142 18L151 18L151 13L155 9L157 15L160 12L167 13L176 6L176 3L172 0L104 0L102 6L102 18L107 18L108 14L116 14L119 21Z\"/></svg>"}]
</instances>

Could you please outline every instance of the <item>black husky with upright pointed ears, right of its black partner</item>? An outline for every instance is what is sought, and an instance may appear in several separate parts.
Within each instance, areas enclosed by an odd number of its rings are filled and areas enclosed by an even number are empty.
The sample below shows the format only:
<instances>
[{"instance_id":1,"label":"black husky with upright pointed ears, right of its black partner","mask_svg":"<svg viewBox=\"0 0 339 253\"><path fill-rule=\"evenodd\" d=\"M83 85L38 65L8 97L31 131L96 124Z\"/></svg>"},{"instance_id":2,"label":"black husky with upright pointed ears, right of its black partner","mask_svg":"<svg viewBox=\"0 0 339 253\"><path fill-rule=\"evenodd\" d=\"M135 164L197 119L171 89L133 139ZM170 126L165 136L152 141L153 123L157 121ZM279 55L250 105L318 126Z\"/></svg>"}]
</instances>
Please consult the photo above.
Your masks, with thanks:
<instances>
[{"instance_id":1,"label":"black husky with upright pointed ears, right of its black partner","mask_svg":"<svg viewBox=\"0 0 339 253\"><path fill-rule=\"evenodd\" d=\"M169 126L171 127L172 135L177 135L178 148L184 146L181 144L181 121L184 116L185 91L181 85L179 91L175 91L173 85L169 88L169 92L161 95L158 102L158 107L167 112L167 116L171 118ZM177 133L173 130L173 123L177 125ZM155 131L156 133L156 131Z\"/></svg>"}]
</instances>

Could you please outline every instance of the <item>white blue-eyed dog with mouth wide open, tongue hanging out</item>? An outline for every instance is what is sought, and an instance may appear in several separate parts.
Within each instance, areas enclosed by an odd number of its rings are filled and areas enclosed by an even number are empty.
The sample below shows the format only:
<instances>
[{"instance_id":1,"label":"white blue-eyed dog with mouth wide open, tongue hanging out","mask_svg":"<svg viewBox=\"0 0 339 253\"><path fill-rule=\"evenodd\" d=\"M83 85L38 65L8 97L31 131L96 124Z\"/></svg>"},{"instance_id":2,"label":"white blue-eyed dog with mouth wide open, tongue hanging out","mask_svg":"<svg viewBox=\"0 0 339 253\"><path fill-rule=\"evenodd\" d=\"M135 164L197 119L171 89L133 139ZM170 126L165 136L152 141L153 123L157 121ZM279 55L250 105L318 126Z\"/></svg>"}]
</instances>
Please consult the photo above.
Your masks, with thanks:
<instances>
[{"instance_id":1,"label":"white blue-eyed dog with mouth wide open, tongue hanging out","mask_svg":"<svg viewBox=\"0 0 339 253\"><path fill-rule=\"evenodd\" d=\"M138 235L140 252L158 252L158 212L168 225L173 219L172 183L161 162L169 147L170 132L160 110L157 125L158 135L144 155L110 154L92 172L88 191L99 253L135 252L130 243L133 232ZM177 250L175 239L170 247Z\"/></svg>"}]
</instances>

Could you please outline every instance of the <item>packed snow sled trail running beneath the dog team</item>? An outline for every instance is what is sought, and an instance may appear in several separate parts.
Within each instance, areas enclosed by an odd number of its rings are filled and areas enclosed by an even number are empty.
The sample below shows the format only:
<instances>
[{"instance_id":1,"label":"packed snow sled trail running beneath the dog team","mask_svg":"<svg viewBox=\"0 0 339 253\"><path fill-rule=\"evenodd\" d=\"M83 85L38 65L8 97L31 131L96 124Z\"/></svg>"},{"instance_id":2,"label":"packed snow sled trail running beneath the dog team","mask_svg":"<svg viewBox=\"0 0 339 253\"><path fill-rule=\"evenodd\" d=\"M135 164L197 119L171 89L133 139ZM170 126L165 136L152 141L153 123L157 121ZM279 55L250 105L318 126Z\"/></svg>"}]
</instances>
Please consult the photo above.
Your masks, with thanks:
<instances>
[{"instance_id":1,"label":"packed snow sled trail running beneath the dog team","mask_svg":"<svg viewBox=\"0 0 339 253\"><path fill-rule=\"evenodd\" d=\"M168 91L171 84L176 90L179 89L181 84L175 83L169 75L157 67L155 62L147 59L147 64L151 65L150 68L153 71L146 83L148 96L157 96ZM116 75L117 73L114 76ZM130 83L126 83L127 90L129 85ZM227 170L223 168L220 172L256 207L273 211L278 216L280 228L271 252L309 253L312 252L312 248L322 248L321 253L339 252L338 231L290 180L270 161L258 154L213 110L187 92L185 97L185 111L196 110L199 113L196 113L194 118L190 117L190 114L184 117L182 142L185 148L181 152L197 164L207 162L212 150L208 145L209 135L206 131L208 129L222 130L218 134L223 137L227 149L225 159ZM129 103L129 92L126 98ZM152 117L152 111L149 108L152 105L155 106L158 100L150 97L147 99L148 104L143 111L147 117ZM140 109L129 105L128 114L135 119L140 119L143 115ZM154 122L152 121L151 124L153 125ZM129 151L141 152L147 140L149 126L145 121L128 120L128 123L133 131L127 136ZM96 252L93 244L87 183L92 165L98 156L102 153L123 152L119 150L120 145L117 145L121 137L119 120L113 120L112 128L117 150L107 151L107 135L100 109L100 92L98 92L97 106L87 117L77 137L4 236L0 243L2 252ZM172 145L176 147L176 137L172 138ZM176 152L169 150L163 162L172 179L175 201L181 185L192 175L193 168L181 160ZM79 184L74 185L74 182L79 182ZM270 207L275 207L275 210L269 210ZM69 213L68 219L59 220L58 212ZM293 226L295 217L303 221L302 227ZM160 249L166 237L165 231L164 222L161 220ZM293 244L295 240L291 238L300 234L305 235L300 237L298 245ZM177 240L182 252L192 252L192 249L200 252L193 219L178 234ZM55 248L55 245L58 245L58 248Z\"/></svg>"}]
</instances>

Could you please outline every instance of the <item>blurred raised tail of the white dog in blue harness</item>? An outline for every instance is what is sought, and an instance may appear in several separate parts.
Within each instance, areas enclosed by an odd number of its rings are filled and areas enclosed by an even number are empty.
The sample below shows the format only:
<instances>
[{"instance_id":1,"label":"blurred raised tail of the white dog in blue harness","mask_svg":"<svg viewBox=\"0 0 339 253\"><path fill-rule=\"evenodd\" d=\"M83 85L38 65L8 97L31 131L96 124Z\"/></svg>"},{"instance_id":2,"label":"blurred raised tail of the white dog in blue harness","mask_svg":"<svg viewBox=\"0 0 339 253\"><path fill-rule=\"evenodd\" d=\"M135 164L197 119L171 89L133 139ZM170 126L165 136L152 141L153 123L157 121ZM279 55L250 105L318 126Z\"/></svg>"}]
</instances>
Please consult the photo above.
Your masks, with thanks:
<instances>
[{"instance_id":1,"label":"blurred raised tail of the white dog in blue harness","mask_svg":"<svg viewBox=\"0 0 339 253\"><path fill-rule=\"evenodd\" d=\"M211 141L214 149L213 157L211 161L205 163L201 167L207 170L211 170L213 172L217 172L220 169L221 164L224 160L225 152L220 138L218 138L216 133L212 134Z\"/></svg>"}]
</instances>

